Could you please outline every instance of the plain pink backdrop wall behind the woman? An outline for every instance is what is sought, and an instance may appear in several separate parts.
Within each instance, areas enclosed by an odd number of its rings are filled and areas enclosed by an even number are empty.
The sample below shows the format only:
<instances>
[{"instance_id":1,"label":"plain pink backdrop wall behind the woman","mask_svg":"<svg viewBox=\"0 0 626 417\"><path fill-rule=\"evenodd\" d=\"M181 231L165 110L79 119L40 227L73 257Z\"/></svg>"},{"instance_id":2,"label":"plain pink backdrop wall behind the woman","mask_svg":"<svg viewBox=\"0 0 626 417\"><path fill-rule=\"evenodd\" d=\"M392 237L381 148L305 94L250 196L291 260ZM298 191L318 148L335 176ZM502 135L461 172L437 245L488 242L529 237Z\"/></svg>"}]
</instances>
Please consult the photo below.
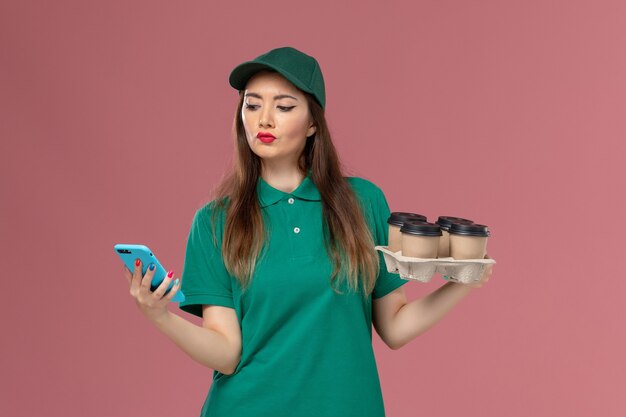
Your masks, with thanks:
<instances>
[{"instance_id":1,"label":"plain pink backdrop wall behind the woman","mask_svg":"<svg viewBox=\"0 0 626 417\"><path fill-rule=\"evenodd\" d=\"M492 231L484 288L398 351L375 335L387 414L623 416L621 0L3 1L0 415L199 414L212 371L113 245L180 274L232 154L228 74L284 45L322 66L348 174Z\"/></svg>"}]
</instances>

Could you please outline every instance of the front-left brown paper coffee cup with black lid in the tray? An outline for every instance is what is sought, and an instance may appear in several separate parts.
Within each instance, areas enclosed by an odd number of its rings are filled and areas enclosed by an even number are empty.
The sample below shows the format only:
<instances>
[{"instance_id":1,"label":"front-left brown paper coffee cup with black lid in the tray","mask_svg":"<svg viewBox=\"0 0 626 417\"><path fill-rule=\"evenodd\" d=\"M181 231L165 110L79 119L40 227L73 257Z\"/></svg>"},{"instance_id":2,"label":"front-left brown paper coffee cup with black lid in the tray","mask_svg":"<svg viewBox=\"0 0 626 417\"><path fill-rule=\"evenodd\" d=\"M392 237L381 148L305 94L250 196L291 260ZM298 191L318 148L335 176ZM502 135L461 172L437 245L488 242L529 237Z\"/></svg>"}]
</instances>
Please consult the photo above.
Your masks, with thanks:
<instances>
[{"instance_id":1,"label":"front-left brown paper coffee cup with black lid in the tray","mask_svg":"<svg viewBox=\"0 0 626 417\"><path fill-rule=\"evenodd\" d=\"M402 256L434 259L439 249L441 228L439 225L421 221L406 221L400 228Z\"/></svg>"}]
</instances>

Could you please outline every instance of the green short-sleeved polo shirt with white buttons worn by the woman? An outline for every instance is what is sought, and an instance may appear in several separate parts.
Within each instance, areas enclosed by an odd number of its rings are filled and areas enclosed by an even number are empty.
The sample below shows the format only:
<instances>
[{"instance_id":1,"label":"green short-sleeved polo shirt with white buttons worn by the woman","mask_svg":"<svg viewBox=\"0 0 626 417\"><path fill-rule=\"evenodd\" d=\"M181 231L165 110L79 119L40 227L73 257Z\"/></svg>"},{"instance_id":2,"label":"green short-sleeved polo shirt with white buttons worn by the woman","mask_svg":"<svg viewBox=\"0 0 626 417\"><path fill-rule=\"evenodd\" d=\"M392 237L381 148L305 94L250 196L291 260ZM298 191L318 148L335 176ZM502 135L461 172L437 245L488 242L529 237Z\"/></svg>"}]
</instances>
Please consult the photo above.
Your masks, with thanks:
<instances>
[{"instance_id":1,"label":"green short-sleeved polo shirt with white buttons worn by the woman","mask_svg":"<svg viewBox=\"0 0 626 417\"><path fill-rule=\"evenodd\" d=\"M331 417L385 415L372 348L372 298L408 281L380 272L366 300L330 286L332 263L324 248L322 203L308 175L291 193L257 185L271 235L248 290L228 274L220 254L225 213L218 216L218 248L210 216L200 208L189 233L179 307L202 317L202 305L234 308L242 335L241 361L232 375L213 372L201 416ZM376 245L387 245L389 206L372 182L347 177L364 209ZM334 284L336 285L336 283Z\"/></svg>"}]
</instances>

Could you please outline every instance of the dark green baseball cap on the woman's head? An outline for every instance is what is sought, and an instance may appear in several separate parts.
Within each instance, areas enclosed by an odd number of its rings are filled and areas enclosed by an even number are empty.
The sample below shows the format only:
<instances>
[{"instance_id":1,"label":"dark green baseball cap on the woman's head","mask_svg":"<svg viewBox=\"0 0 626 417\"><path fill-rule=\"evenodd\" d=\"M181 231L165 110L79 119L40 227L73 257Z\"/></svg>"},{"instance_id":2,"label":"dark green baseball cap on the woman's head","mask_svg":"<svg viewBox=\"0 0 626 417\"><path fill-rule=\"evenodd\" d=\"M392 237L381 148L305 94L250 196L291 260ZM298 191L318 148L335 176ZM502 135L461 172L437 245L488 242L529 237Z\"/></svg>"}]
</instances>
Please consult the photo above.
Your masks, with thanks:
<instances>
[{"instance_id":1,"label":"dark green baseball cap on the woman's head","mask_svg":"<svg viewBox=\"0 0 626 417\"><path fill-rule=\"evenodd\" d=\"M244 90L250 77L268 68L278 71L300 90L312 94L320 106L325 107L324 77L319 64L312 56L290 46L272 49L252 61L237 65L228 82L233 88Z\"/></svg>"}]
</instances>

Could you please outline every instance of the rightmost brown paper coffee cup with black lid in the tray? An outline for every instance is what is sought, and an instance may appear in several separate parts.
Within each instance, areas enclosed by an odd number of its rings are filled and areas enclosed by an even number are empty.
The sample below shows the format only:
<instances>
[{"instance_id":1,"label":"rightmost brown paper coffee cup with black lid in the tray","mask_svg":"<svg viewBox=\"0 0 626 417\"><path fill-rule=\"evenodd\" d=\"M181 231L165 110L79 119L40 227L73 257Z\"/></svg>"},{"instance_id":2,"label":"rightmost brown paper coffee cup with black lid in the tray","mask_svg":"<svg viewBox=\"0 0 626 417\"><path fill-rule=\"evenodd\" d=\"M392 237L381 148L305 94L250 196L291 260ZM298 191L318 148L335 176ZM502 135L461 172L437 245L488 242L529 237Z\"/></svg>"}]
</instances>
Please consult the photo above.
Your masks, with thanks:
<instances>
[{"instance_id":1,"label":"rightmost brown paper coffee cup with black lid in the tray","mask_svg":"<svg viewBox=\"0 0 626 417\"><path fill-rule=\"evenodd\" d=\"M450 233L450 256L454 259L484 259L489 229L484 224L453 223Z\"/></svg>"}]
</instances>

